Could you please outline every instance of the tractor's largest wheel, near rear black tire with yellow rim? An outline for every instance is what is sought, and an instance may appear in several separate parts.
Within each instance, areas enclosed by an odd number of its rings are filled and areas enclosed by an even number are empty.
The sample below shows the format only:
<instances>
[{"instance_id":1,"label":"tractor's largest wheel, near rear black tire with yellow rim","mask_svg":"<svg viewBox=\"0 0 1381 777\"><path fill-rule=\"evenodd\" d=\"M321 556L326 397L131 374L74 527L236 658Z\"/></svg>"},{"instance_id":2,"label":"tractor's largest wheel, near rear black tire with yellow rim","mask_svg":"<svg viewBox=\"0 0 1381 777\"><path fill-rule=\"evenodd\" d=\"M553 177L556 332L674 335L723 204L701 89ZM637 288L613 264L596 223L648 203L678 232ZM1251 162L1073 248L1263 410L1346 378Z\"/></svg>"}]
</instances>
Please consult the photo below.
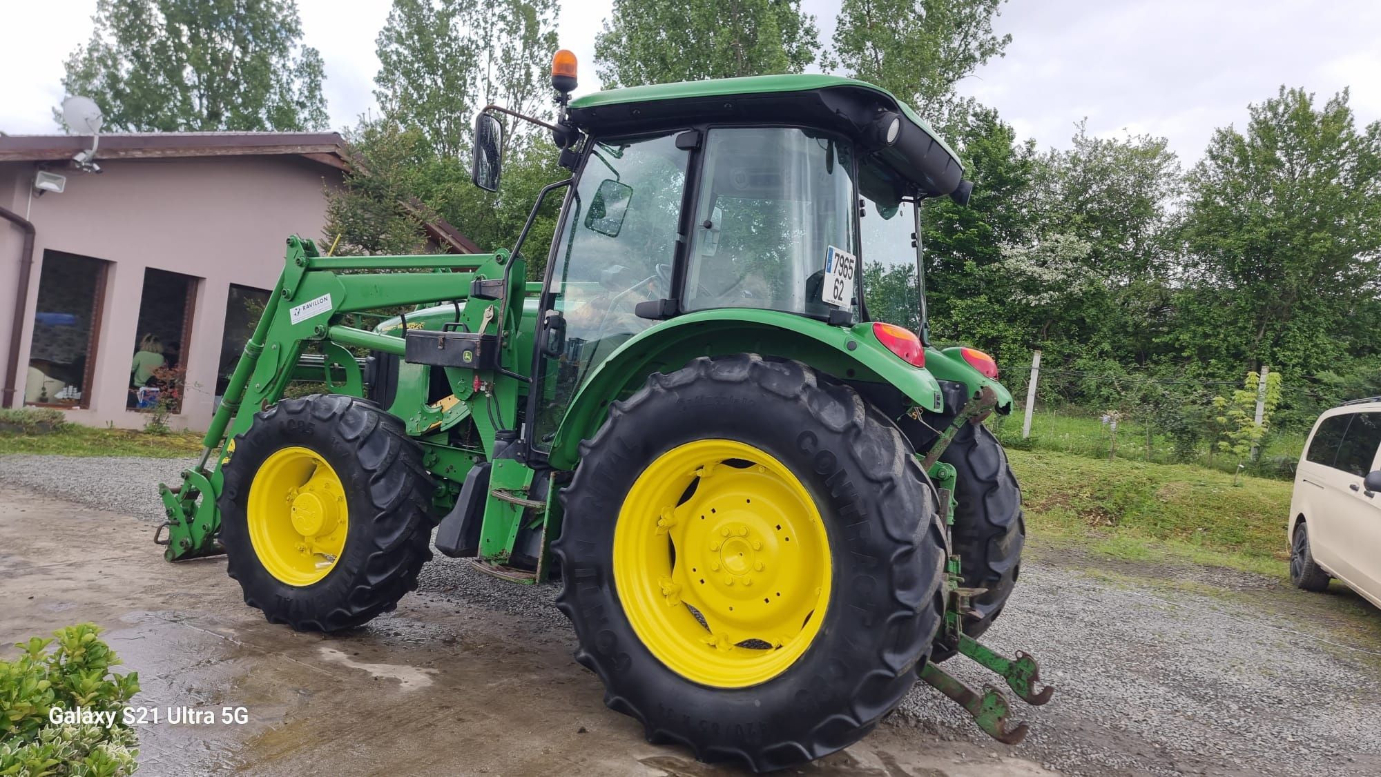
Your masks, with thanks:
<instances>
[{"instance_id":1,"label":"tractor's largest wheel, near rear black tire with yellow rim","mask_svg":"<svg viewBox=\"0 0 1381 777\"><path fill-rule=\"evenodd\" d=\"M652 375L563 501L576 658L649 741L700 760L782 769L858 741L943 620L945 527L910 446L795 362Z\"/></svg>"}]
</instances>

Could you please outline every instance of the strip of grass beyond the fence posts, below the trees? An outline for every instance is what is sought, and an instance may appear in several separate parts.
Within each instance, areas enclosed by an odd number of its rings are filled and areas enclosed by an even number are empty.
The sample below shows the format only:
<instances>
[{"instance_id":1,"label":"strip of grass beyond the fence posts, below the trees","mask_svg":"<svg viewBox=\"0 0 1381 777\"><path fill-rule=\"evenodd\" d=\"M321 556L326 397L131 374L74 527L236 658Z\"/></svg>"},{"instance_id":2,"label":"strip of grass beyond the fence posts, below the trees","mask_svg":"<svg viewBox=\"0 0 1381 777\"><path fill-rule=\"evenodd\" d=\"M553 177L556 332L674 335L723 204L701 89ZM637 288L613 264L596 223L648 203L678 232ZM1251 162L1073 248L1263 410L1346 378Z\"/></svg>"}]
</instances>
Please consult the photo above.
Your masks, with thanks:
<instances>
[{"instance_id":1,"label":"strip of grass beyond the fence posts, below the trees","mask_svg":"<svg viewBox=\"0 0 1381 777\"><path fill-rule=\"evenodd\" d=\"M1026 449L1040 451L1054 451L1065 454L1079 454L1095 458L1108 458L1112 447L1112 435L1098 415L1085 415L1069 409L1040 410L1032 415L1032 436L1022 439L1021 409L1007 417L993 417L989 421L993 432L1008 449ZM1146 435L1146 424L1124 418L1117 422L1116 458L1128 461L1152 461L1157 464L1174 464L1175 450L1168 437L1150 429ZM1273 432L1266 436L1261 449L1261 465L1247 462L1248 472L1255 471L1279 479L1293 479L1293 465L1300 460L1304 440L1309 435L1305 431ZM1197 464L1204 468L1221 472L1233 472L1237 460L1230 454L1208 455L1207 443L1195 460L1188 464Z\"/></svg>"}]
</instances>

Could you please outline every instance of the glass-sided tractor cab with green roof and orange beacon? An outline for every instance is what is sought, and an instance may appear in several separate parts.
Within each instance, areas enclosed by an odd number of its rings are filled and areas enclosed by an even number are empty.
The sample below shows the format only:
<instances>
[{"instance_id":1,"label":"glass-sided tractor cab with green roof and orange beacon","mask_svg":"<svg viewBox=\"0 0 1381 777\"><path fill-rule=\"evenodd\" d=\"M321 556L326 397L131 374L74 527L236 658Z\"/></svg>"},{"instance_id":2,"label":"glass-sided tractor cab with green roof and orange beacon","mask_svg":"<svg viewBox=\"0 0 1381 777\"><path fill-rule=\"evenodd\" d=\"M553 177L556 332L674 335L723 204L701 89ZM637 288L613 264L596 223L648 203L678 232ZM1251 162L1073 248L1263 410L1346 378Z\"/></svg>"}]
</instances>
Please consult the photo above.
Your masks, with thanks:
<instances>
[{"instance_id":1,"label":"glass-sided tractor cab with green roof and orange beacon","mask_svg":"<svg viewBox=\"0 0 1381 777\"><path fill-rule=\"evenodd\" d=\"M574 86L565 65L558 90ZM820 75L566 95L552 137L573 175L547 259L541 391L529 404L539 455L581 386L660 322L753 309L829 327L887 322L920 345L917 206L963 201L969 185L906 104ZM482 113L475 130L474 179L494 189L500 124Z\"/></svg>"}]
</instances>

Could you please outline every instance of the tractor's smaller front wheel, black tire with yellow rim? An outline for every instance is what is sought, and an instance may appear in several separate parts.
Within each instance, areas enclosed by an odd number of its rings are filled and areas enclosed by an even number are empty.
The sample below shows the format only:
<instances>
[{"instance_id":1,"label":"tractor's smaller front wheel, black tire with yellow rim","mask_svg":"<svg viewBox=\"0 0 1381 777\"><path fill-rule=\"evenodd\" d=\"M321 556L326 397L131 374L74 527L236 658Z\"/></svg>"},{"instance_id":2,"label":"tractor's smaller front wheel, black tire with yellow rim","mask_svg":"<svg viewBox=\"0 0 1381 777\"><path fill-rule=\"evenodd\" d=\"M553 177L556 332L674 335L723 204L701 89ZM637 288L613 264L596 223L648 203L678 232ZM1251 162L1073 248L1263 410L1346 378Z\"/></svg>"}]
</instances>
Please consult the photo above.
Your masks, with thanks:
<instances>
[{"instance_id":1,"label":"tractor's smaller front wheel, black tire with yellow rim","mask_svg":"<svg viewBox=\"0 0 1381 777\"><path fill-rule=\"evenodd\" d=\"M417 574L431 560L432 482L402 421L351 396L284 399L257 413L226 451L217 506L228 573L244 591L244 603L269 622L296 631L355 628L394 610L417 588ZM334 480L315 487L323 469ZM254 494L255 480L265 494ZM276 493L268 491L284 486L291 489L269 498ZM301 524L297 512L289 512L289 505L298 508L294 494L308 491L311 501L301 509L334 511L330 522L344 533L344 544L337 534L331 548L338 555L315 553L312 564L294 556L290 531ZM273 506L279 501L282 506ZM300 537L304 545L320 540ZM330 564L327 571L313 580L312 567L323 564Z\"/></svg>"}]
</instances>

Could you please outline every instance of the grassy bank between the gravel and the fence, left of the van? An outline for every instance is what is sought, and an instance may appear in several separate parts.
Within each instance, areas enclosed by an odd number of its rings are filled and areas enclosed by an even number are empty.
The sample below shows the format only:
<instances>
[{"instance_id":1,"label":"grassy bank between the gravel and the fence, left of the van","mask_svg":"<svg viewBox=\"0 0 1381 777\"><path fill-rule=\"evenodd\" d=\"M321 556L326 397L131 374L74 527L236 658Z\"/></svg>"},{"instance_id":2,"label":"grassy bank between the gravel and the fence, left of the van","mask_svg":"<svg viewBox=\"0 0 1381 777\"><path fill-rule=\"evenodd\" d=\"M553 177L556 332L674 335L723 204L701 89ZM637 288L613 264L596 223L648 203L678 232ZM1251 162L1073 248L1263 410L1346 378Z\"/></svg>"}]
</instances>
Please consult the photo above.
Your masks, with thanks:
<instances>
[{"instance_id":1,"label":"grassy bank between the gravel and the fence, left of the van","mask_svg":"<svg viewBox=\"0 0 1381 777\"><path fill-rule=\"evenodd\" d=\"M1127 562L1185 562L1282 577L1293 483L1182 464L1010 450L1027 530Z\"/></svg>"}]
</instances>

